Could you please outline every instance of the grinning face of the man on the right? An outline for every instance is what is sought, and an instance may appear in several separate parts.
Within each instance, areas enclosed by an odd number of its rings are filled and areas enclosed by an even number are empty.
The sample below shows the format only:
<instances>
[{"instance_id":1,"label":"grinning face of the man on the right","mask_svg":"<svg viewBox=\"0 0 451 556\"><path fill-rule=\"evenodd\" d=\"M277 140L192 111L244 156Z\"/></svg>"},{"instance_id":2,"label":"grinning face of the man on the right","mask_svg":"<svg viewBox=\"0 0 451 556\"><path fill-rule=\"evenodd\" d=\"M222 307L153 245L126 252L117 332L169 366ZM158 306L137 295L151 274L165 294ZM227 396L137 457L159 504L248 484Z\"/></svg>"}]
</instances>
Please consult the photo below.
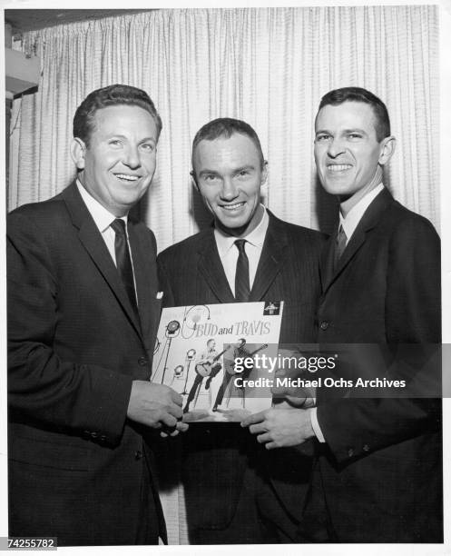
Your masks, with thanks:
<instances>
[{"instance_id":1,"label":"grinning face of the man on the right","mask_svg":"<svg viewBox=\"0 0 451 556\"><path fill-rule=\"evenodd\" d=\"M324 189L340 201L363 197L380 179L378 164L387 162L385 143L377 142L369 104L348 101L321 108L315 123L315 162Z\"/></svg>"}]
</instances>

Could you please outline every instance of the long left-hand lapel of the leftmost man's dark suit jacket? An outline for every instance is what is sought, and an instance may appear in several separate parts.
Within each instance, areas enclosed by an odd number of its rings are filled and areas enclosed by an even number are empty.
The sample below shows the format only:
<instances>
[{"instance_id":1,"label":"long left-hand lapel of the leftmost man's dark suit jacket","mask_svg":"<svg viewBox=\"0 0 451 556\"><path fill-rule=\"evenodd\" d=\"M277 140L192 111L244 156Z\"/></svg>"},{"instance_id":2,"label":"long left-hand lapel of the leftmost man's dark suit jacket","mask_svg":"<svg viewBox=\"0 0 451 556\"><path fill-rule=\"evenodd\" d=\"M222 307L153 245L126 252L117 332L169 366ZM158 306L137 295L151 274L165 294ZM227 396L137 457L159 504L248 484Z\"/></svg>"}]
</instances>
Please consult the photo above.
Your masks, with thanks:
<instances>
[{"instance_id":1,"label":"long left-hand lapel of the leftmost man's dark suit jacket","mask_svg":"<svg viewBox=\"0 0 451 556\"><path fill-rule=\"evenodd\" d=\"M102 273L105 282L108 283L116 299L122 305L123 311L132 322L136 332L141 335L140 323L132 309L132 304L125 292L121 277L114 266L113 259L93 221L91 213L89 213L86 205L83 203L76 184L74 183L65 189L62 197L71 214L74 226L78 228L78 236L84 249L91 256L99 272Z\"/></svg>"}]
</instances>

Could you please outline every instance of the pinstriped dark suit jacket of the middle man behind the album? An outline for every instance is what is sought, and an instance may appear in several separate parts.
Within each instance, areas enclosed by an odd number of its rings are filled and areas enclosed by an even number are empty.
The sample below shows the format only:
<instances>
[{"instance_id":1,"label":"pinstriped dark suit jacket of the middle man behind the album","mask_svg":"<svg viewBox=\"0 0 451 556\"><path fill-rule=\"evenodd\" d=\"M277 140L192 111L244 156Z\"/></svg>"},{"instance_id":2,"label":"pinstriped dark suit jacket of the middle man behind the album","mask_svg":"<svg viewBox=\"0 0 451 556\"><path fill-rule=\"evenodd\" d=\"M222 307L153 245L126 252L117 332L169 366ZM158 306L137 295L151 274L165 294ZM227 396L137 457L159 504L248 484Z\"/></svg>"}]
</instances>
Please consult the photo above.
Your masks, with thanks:
<instances>
[{"instance_id":1,"label":"pinstriped dark suit jacket of the middle man behind the album","mask_svg":"<svg viewBox=\"0 0 451 556\"><path fill-rule=\"evenodd\" d=\"M320 233L285 223L270 213L250 301L285 301L280 343L313 343L316 339L319 253L323 241ZM234 303L213 228L166 249L158 262L165 306ZM223 529L230 523L240 497L244 454L250 455L251 448L258 451L254 453L257 459L265 454L282 503L290 514L299 516L309 477L309 458L289 449L260 452L255 438L238 423L194 424L182 441L191 529Z\"/></svg>"}]
</instances>

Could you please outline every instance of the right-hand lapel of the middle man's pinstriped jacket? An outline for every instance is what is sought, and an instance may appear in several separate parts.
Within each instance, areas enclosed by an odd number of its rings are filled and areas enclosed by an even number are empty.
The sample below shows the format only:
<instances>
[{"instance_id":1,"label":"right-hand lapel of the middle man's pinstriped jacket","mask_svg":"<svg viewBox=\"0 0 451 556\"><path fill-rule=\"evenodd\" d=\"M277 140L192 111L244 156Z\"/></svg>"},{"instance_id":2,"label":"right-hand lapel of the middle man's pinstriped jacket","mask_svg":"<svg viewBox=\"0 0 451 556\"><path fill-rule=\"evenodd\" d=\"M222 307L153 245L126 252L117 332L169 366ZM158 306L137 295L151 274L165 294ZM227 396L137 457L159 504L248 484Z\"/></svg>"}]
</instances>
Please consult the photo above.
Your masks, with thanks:
<instances>
[{"instance_id":1,"label":"right-hand lapel of the middle man's pinstriped jacket","mask_svg":"<svg viewBox=\"0 0 451 556\"><path fill-rule=\"evenodd\" d=\"M270 224L261 251L260 262L250 291L250 301L260 301L268 292L286 258L287 233L279 220L268 211Z\"/></svg>"}]
</instances>

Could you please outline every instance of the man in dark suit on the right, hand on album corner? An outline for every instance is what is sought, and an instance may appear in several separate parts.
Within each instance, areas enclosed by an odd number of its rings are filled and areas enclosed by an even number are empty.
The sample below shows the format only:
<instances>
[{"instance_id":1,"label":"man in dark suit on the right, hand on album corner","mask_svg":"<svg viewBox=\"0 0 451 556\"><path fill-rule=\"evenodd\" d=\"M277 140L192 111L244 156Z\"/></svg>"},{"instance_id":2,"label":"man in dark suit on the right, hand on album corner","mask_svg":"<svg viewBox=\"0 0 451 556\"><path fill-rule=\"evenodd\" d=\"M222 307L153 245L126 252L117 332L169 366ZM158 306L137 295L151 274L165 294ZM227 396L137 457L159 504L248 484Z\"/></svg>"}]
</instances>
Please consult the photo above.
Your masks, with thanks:
<instances>
[{"instance_id":1,"label":"man in dark suit on the right, hand on album corner","mask_svg":"<svg viewBox=\"0 0 451 556\"><path fill-rule=\"evenodd\" d=\"M319 440L300 539L440 542L439 239L382 184L395 139L380 99L357 87L331 91L315 126L319 179L340 203L321 262L319 342L345 344L354 362L349 374L338 364L335 378L403 379L406 390L368 388L356 399L346 384L343 399L322 388L316 408L244 424L269 449Z\"/></svg>"}]
</instances>

